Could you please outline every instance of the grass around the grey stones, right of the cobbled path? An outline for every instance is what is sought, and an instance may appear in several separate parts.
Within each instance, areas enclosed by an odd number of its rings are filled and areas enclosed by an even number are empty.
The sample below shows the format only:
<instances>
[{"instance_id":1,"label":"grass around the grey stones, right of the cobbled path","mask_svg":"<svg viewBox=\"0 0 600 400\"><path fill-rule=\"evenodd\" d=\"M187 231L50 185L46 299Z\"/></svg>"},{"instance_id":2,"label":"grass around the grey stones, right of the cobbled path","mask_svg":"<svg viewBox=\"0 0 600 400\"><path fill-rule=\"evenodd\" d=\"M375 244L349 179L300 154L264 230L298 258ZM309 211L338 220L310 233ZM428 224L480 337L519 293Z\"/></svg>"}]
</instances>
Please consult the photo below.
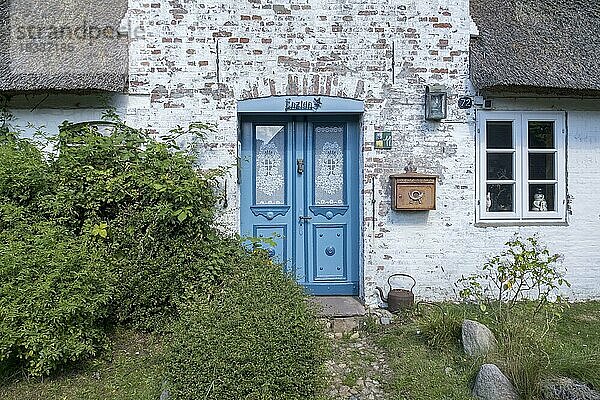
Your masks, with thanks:
<instances>
[{"instance_id":1,"label":"grass around the grey stones, right of the cobbled path","mask_svg":"<svg viewBox=\"0 0 600 400\"><path fill-rule=\"evenodd\" d=\"M600 389L600 302L572 304L541 342L532 341L529 333L545 329L543 325L514 318L514 325L503 331L490 324L499 351L487 360L466 357L457 338L462 318L480 319L476 309L443 307L445 318L432 307L422 314L405 314L400 323L375 334L393 372L386 387L389 399L471 399L470 388L484 362L496 363L525 399L535 399L539 380L551 376L571 377Z\"/></svg>"}]
</instances>

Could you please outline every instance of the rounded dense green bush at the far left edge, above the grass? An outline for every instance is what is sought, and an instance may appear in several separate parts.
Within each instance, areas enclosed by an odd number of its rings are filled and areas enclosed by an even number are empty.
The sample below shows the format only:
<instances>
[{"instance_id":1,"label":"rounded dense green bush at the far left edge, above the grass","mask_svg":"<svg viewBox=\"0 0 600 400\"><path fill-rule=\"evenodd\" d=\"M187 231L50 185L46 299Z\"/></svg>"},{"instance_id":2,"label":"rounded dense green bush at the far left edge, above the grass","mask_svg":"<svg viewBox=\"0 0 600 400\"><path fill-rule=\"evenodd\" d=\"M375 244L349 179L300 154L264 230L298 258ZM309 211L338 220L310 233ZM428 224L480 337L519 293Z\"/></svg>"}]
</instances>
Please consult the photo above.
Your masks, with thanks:
<instances>
[{"instance_id":1,"label":"rounded dense green bush at the far left edge, above the grass","mask_svg":"<svg viewBox=\"0 0 600 400\"><path fill-rule=\"evenodd\" d=\"M0 233L0 363L46 375L107 346L105 254L52 223Z\"/></svg>"}]
</instances>

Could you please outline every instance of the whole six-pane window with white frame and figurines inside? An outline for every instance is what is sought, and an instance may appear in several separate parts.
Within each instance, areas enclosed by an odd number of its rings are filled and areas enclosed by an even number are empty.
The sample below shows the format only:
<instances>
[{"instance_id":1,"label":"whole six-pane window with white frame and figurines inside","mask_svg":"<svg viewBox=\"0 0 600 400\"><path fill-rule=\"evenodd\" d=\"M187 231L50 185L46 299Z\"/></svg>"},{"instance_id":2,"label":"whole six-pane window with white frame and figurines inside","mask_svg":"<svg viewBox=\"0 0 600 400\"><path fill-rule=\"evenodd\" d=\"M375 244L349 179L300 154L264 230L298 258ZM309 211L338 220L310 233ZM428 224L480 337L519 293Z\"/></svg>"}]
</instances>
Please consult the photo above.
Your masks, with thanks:
<instances>
[{"instance_id":1,"label":"whole six-pane window with white frame and figurines inside","mask_svg":"<svg viewBox=\"0 0 600 400\"><path fill-rule=\"evenodd\" d=\"M563 113L478 114L479 219L565 218Z\"/></svg>"}]
</instances>

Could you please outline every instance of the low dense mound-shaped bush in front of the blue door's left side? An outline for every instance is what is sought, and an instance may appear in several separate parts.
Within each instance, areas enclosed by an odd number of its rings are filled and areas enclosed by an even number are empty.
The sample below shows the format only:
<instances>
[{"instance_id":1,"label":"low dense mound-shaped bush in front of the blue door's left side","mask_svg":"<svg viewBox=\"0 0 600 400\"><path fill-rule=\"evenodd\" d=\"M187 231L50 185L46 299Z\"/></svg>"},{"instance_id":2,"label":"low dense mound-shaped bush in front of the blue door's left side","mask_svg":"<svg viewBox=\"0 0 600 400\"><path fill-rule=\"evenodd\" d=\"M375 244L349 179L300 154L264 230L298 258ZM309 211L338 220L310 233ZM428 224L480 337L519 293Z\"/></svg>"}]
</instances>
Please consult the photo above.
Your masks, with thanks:
<instances>
[{"instance_id":1,"label":"low dense mound-shaped bush in front of the blue door's left side","mask_svg":"<svg viewBox=\"0 0 600 400\"><path fill-rule=\"evenodd\" d=\"M302 288L279 265L244 258L176 329L167 368L176 399L311 399L321 387L326 342Z\"/></svg>"}]
</instances>

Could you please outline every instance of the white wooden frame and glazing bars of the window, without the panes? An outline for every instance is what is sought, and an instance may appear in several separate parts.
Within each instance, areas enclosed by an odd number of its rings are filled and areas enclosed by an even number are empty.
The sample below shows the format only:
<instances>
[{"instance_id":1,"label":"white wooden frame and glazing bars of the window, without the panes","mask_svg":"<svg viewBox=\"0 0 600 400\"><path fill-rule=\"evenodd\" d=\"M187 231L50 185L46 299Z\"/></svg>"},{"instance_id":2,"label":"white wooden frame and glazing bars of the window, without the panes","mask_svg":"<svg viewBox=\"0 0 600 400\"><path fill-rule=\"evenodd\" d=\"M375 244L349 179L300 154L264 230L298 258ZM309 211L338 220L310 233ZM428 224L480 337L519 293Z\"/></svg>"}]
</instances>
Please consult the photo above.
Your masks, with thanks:
<instances>
[{"instance_id":1,"label":"white wooden frame and glazing bars of the window, without the panes","mask_svg":"<svg viewBox=\"0 0 600 400\"><path fill-rule=\"evenodd\" d=\"M511 121L513 126L513 148L491 149L491 153L514 153L513 180L491 181L492 183L514 183L513 211L486 211L487 184L487 122ZM554 149L529 149L529 121L554 122ZM494 225L501 224L544 224L566 222L566 115L564 112L551 111L479 111L477 113L477 212L476 222ZM554 180L529 179L530 153L555 153ZM556 184L554 193L554 211L529 210L529 184Z\"/></svg>"}]
</instances>

